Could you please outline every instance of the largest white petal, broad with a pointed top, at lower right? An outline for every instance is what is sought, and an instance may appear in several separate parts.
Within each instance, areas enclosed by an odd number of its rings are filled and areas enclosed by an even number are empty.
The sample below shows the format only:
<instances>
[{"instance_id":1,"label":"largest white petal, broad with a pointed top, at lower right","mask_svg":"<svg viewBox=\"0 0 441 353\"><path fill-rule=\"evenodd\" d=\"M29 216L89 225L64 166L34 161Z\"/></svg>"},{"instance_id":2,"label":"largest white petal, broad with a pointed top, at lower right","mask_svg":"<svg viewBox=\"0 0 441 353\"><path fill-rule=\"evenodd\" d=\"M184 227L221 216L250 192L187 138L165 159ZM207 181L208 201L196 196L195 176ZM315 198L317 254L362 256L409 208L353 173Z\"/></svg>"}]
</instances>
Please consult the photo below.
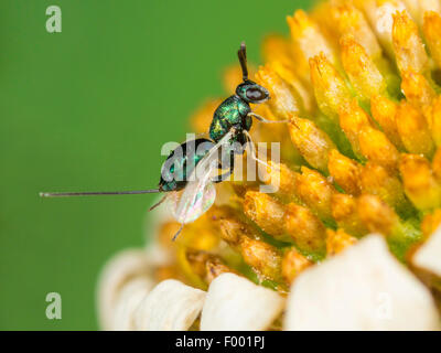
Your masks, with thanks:
<instances>
[{"instance_id":1,"label":"largest white petal, broad with a pointed top, at lower right","mask_svg":"<svg viewBox=\"0 0 441 353\"><path fill-rule=\"evenodd\" d=\"M437 330L429 290L369 235L306 269L288 298L286 330Z\"/></svg>"}]
</instances>

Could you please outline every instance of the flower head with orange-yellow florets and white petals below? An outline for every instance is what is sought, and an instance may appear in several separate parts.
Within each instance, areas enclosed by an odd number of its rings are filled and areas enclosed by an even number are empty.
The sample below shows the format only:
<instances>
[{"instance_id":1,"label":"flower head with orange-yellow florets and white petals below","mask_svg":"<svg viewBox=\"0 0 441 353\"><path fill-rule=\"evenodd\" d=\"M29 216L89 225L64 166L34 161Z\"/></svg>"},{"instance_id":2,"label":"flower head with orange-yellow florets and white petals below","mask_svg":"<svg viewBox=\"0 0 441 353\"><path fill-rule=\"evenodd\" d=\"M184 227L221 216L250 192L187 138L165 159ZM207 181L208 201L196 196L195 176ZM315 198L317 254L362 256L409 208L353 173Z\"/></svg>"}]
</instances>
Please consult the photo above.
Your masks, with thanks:
<instances>
[{"instance_id":1,"label":"flower head with orange-yellow florets and white petals below","mask_svg":"<svg viewBox=\"0 0 441 353\"><path fill-rule=\"evenodd\" d=\"M178 225L154 214L149 260L127 255L104 276L105 328L439 328L427 287L441 276L440 11L333 0L289 15L290 38L268 38L250 77L271 96L255 111L290 121L251 129L281 143L281 161L218 184L175 243ZM227 71L228 90L239 75ZM219 101L194 115L197 132ZM375 317L381 293L398 308L389 321Z\"/></svg>"}]
</instances>

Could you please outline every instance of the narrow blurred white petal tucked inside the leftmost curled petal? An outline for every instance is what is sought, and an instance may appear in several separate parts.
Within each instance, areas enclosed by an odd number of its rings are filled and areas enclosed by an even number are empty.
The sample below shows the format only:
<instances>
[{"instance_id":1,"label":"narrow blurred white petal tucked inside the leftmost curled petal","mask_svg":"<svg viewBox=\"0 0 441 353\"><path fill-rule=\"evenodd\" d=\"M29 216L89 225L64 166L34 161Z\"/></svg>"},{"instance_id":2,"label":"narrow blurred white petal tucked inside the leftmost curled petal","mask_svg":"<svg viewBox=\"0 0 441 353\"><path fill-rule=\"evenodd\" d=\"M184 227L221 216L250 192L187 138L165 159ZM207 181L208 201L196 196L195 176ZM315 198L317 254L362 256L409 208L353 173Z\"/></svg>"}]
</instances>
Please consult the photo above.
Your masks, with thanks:
<instances>
[{"instance_id":1,"label":"narrow blurred white petal tucked inside the leftmost curled petal","mask_svg":"<svg viewBox=\"0 0 441 353\"><path fill-rule=\"evenodd\" d=\"M133 331L135 315L141 301L154 287L154 281L149 278L136 278L127 282L119 293L115 304L112 330Z\"/></svg>"}]
</instances>

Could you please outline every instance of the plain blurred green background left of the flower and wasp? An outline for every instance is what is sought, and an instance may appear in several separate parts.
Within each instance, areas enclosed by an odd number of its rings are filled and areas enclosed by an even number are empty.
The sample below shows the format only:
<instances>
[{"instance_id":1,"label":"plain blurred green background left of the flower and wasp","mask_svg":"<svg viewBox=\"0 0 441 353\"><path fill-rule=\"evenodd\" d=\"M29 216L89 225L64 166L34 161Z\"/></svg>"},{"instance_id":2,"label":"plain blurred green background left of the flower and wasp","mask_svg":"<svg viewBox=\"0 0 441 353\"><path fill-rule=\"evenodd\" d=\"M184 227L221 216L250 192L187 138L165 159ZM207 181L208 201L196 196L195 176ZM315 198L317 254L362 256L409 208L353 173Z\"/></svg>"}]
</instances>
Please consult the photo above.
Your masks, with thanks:
<instances>
[{"instance_id":1,"label":"plain blurred green background left of the flower and wasp","mask_svg":"<svg viewBox=\"0 0 441 353\"><path fill-rule=\"evenodd\" d=\"M225 95L240 41L259 63L265 34L308 0L0 1L0 329L97 329L95 287L118 250L144 244L153 196L41 200L39 191L155 186L161 146ZM46 8L63 32L47 33ZM60 292L63 319L47 320Z\"/></svg>"}]
</instances>

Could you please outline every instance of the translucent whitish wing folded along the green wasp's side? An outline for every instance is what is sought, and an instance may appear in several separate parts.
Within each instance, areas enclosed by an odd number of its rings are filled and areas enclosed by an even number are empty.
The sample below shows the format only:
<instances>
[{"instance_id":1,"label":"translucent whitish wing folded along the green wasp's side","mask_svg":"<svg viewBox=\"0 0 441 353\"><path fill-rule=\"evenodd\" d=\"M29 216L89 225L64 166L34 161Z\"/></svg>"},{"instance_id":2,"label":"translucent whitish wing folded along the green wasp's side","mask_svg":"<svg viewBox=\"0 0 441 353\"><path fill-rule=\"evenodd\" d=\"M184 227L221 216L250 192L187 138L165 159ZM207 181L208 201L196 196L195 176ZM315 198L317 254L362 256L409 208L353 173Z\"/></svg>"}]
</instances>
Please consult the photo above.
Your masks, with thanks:
<instances>
[{"instance_id":1,"label":"translucent whitish wing folded along the green wasp's side","mask_svg":"<svg viewBox=\"0 0 441 353\"><path fill-rule=\"evenodd\" d=\"M181 224L191 223L203 215L216 199L213 185L213 173L218 168L218 152L229 143L233 131L229 131L211 151L197 163L190 175L180 201L174 210L174 217Z\"/></svg>"}]
</instances>

